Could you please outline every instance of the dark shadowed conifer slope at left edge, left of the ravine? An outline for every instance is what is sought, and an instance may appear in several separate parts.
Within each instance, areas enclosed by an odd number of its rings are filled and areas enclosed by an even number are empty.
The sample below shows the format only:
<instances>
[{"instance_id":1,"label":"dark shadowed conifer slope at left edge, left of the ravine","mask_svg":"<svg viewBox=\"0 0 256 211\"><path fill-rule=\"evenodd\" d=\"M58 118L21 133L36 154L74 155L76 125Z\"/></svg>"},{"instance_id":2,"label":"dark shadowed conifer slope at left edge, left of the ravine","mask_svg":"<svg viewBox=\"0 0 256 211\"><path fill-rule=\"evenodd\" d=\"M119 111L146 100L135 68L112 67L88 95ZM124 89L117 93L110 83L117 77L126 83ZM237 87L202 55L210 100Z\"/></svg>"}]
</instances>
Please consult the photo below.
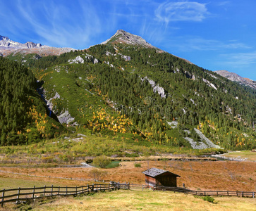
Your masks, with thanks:
<instances>
[{"instance_id":1,"label":"dark shadowed conifer slope at left edge, left of the ravine","mask_svg":"<svg viewBox=\"0 0 256 211\"><path fill-rule=\"evenodd\" d=\"M0 57L0 82L1 146L37 142L61 132L61 124L47 116L49 111L28 68Z\"/></svg>"}]
</instances>

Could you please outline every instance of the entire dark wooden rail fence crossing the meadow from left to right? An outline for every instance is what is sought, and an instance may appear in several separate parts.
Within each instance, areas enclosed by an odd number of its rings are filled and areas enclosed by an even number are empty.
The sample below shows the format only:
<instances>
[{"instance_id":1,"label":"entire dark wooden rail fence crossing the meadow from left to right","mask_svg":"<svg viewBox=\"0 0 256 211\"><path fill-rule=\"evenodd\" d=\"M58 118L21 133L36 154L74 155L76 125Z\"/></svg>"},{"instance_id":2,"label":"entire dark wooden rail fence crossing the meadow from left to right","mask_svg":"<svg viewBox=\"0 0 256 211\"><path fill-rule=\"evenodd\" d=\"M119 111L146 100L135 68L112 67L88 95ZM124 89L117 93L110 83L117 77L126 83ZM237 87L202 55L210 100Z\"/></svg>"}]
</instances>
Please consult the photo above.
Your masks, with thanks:
<instances>
[{"instance_id":1,"label":"entire dark wooden rail fence crossing the meadow from left to right","mask_svg":"<svg viewBox=\"0 0 256 211\"><path fill-rule=\"evenodd\" d=\"M148 186L143 184L116 183L112 184L92 184L86 186L61 187L61 186L44 186L33 188L13 188L0 190L0 204L24 200L34 200L35 198L44 198L48 196L68 196L82 193L92 193L97 191L117 190L117 189L135 189L144 190ZM196 196L240 196L255 198L255 192L246 191L193 191L187 188L154 186L153 191L173 191L178 193L187 193Z\"/></svg>"}]
</instances>

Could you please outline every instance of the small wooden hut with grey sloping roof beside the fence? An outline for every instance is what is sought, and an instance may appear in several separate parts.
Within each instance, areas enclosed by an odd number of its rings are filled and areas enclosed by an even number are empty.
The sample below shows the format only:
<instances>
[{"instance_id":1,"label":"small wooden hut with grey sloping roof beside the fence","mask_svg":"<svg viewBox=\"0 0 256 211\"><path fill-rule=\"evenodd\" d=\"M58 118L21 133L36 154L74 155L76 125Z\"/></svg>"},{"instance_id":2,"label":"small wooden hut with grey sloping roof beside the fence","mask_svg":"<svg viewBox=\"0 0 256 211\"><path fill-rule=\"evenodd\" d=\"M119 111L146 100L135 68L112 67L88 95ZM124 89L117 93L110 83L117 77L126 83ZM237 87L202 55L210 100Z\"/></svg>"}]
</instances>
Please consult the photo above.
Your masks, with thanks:
<instances>
[{"instance_id":1,"label":"small wooden hut with grey sloping roof beside the fence","mask_svg":"<svg viewBox=\"0 0 256 211\"><path fill-rule=\"evenodd\" d=\"M166 170L159 170L157 168L151 168L144 172L145 174L145 182L148 186L169 186L176 187L177 186L177 174L173 174Z\"/></svg>"}]
</instances>

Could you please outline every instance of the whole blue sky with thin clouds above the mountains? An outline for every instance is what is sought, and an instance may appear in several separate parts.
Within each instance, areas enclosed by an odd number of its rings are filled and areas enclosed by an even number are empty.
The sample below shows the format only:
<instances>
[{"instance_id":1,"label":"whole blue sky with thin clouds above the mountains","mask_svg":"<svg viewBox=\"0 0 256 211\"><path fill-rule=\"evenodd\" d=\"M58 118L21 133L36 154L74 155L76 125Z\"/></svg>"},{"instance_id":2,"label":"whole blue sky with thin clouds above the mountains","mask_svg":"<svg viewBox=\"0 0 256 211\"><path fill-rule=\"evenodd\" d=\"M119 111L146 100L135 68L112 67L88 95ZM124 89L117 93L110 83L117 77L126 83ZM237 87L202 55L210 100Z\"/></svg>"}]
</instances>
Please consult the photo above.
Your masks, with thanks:
<instances>
[{"instance_id":1,"label":"whole blue sky with thin clouds above the mountains","mask_svg":"<svg viewBox=\"0 0 256 211\"><path fill-rule=\"evenodd\" d=\"M208 70L256 80L256 1L0 0L0 35L86 49L116 30Z\"/></svg>"}]
</instances>

